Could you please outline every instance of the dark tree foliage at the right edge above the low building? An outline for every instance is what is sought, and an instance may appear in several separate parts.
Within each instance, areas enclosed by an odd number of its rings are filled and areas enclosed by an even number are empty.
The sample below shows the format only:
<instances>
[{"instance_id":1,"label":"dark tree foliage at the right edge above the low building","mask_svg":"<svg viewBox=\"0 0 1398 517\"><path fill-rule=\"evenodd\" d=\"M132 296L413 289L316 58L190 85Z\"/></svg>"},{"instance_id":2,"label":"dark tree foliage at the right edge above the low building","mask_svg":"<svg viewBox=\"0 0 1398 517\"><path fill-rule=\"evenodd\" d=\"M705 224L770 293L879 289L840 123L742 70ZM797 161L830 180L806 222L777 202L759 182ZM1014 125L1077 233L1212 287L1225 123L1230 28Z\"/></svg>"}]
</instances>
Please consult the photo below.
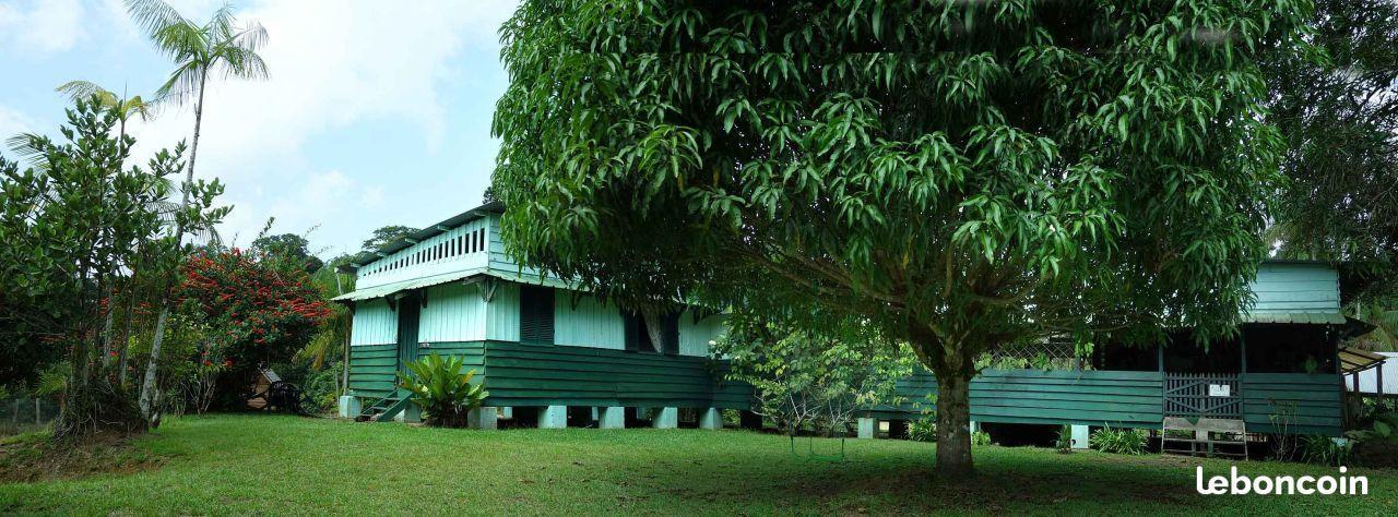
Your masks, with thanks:
<instances>
[{"instance_id":1,"label":"dark tree foliage at the right edge above the low building","mask_svg":"<svg viewBox=\"0 0 1398 517\"><path fill-rule=\"evenodd\" d=\"M1346 293L1398 293L1398 4L1316 0L1309 41L1311 54L1261 61L1290 148L1272 236L1283 256L1342 260L1377 288Z\"/></svg>"}]
</instances>

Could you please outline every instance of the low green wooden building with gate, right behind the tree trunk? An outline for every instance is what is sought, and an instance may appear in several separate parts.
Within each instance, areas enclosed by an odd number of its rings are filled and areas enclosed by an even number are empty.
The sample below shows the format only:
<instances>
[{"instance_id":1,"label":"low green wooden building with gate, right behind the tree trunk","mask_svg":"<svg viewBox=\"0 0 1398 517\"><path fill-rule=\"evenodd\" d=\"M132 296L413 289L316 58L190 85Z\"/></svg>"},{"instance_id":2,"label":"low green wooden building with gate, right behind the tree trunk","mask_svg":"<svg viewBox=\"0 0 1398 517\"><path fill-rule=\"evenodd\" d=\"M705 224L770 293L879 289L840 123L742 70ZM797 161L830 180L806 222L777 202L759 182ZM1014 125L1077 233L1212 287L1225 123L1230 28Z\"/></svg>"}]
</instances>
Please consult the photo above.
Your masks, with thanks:
<instances>
[{"instance_id":1,"label":"low green wooden building with gate, right behind the tree trunk","mask_svg":"<svg viewBox=\"0 0 1398 517\"><path fill-rule=\"evenodd\" d=\"M1174 333L1165 347L1099 347L1090 361L1074 358L1065 342L1007 351L1023 366L990 367L972 381L972 421L1072 425L1075 446L1086 446L1089 426L1162 429L1199 418L1246 433L1339 436L1338 354L1352 327L1341 314L1336 270L1267 261L1253 292L1240 335L1206 348ZM1054 367L1035 365L1043 359ZM898 393L899 404L863 412L861 436L874 436L879 421L906 422L931 408L937 380L923 372L902 380Z\"/></svg>"}]
</instances>

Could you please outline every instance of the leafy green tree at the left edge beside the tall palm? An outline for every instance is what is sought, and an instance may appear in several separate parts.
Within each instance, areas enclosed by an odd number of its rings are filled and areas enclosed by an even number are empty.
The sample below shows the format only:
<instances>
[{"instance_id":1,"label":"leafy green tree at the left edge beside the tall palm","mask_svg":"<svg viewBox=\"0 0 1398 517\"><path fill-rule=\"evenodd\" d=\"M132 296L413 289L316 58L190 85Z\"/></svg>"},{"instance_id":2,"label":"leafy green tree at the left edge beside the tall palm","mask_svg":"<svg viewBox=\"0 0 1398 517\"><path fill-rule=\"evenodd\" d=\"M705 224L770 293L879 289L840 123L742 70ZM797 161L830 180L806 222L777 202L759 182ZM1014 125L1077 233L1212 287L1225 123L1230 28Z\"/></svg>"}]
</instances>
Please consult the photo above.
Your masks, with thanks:
<instances>
[{"instance_id":1,"label":"leafy green tree at the left edge beside the tall palm","mask_svg":"<svg viewBox=\"0 0 1398 517\"><path fill-rule=\"evenodd\" d=\"M32 379L66 351L59 439L143 428L124 383L108 372L124 366L108 358L115 286L130 285L127 271L173 268L162 261L178 249L162 233L166 221L200 231L228 212L212 208L218 182L183 184L192 203L171 208L166 177L183 168L183 144L148 168L129 168L136 140L116 131L127 115L96 95L78 101L59 129L62 143L11 140L29 168L0 158L0 384Z\"/></svg>"}]
</instances>

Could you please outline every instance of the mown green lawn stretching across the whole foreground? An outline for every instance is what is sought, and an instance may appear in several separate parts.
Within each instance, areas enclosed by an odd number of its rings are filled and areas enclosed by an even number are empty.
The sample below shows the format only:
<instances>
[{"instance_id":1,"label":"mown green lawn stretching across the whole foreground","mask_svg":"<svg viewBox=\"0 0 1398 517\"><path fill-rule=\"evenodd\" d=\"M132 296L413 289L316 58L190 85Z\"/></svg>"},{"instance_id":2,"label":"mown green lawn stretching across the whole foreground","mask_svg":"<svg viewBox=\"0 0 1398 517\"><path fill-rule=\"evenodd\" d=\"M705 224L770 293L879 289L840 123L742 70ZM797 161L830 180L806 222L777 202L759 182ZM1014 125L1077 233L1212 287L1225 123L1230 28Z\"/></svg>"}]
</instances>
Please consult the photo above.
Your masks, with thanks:
<instances>
[{"instance_id":1,"label":"mown green lawn stretching across the whole foreground","mask_svg":"<svg viewBox=\"0 0 1398 517\"><path fill-rule=\"evenodd\" d=\"M1369 496L1201 496L1194 467L1213 475L1232 463L986 446L974 449L976 478L935 479L928 443L850 440L843 463L804 461L783 436L741 430L478 432L217 415L169 421L133 446L162 461L0 485L0 513L1398 514L1394 471L1352 469L1369 476ZM1240 471L1336 474L1261 461Z\"/></svg>"}]
</instances>

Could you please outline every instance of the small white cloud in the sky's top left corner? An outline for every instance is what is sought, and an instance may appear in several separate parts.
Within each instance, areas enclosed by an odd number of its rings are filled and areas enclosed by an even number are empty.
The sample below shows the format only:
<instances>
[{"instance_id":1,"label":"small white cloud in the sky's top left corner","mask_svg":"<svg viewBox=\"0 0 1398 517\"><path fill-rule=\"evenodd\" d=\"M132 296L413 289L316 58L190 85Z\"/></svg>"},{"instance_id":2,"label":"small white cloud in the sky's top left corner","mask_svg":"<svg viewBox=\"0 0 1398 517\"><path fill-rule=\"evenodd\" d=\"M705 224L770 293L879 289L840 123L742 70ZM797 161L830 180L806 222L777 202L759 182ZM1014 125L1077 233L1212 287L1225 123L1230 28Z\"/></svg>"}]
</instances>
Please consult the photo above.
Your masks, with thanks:
<instances>
[{"instance_id":1,"label":"small white cloud in the sky's top left corner","mask_svg":"<svg viewBox=\"0 0 1398 517\"><path fill-rule=\"evenodd\" d=\"M85 36L78 0L0 1L0 52L48 54Z\"/></svg>"}]
</instances>

